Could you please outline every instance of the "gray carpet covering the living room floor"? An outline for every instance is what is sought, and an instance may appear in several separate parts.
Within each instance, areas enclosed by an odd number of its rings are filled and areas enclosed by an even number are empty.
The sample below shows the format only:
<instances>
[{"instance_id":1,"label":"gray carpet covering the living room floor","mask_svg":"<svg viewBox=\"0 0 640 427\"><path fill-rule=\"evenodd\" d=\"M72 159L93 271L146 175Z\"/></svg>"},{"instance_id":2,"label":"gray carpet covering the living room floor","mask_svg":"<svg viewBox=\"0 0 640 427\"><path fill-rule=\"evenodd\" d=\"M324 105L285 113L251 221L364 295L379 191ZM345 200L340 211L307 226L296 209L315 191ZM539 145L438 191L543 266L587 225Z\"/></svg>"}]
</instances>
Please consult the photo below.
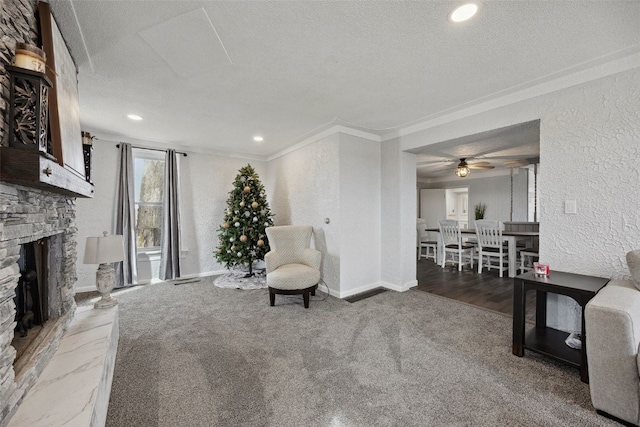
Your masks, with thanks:
<instances>
[{"instance_id":1,"label":"gray carpet covering the living room floor","mask_svg":"<svg viewBox=\"0 0 640 427\"><path fill-rule=\"evenodd\" d=\"M511 318L424 292L356 303L118 291L107 426L596 426L577 369L511 354Z\"/></svg>"}]
</instances>

